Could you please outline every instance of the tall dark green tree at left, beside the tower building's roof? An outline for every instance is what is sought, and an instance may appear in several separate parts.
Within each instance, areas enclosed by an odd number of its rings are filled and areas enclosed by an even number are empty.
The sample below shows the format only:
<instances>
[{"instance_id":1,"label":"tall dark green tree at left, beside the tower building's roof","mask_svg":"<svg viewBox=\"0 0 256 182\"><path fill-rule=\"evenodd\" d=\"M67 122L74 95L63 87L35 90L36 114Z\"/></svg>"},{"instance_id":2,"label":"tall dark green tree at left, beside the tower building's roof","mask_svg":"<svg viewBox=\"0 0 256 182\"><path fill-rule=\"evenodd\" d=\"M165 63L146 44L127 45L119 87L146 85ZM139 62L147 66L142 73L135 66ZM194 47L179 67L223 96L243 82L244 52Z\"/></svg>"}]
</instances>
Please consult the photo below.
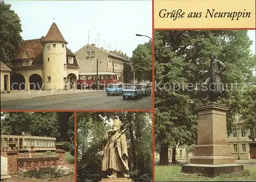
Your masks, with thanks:
<instances>
[{"instance_id":1,"label":"tall dark green tree at left, beside the tower building's roof","mask_svg":"<svg viewBox=\"0 0 256 182\"><path fill-rule=\"evenodd\" d=\"M3 63L11 66L11 60L14 53L18 49L22 41L22 25L18 15L10 9L10 4L1 2L0 6L0 39L1 39L1 55L0 59Z\"/></svg>"}]
</instances>

